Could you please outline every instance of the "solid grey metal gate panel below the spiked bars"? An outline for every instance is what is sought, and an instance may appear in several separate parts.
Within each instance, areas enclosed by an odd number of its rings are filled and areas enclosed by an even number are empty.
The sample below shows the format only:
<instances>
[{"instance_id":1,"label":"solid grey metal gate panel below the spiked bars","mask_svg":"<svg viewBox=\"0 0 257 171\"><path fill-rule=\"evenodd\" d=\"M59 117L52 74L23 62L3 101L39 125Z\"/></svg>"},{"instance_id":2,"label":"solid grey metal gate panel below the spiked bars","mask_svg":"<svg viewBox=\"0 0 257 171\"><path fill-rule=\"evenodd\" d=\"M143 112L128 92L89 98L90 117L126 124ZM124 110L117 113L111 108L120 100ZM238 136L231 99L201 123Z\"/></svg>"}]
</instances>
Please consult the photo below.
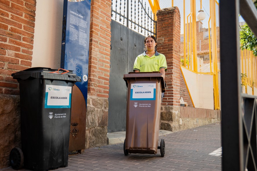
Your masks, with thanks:
<instances>
[{"instance_id":1,"label":"solid grey metal gate panel below the spiked bars","mask_svg":"<svg viewBox=\"0 0 257 171\"><path fill-rule=\"evenodd\" d=\"M108 133L126 130L127 87L123 75L133 72L135 58L144 52L145 36L111 21Z\"/></svg>"}]
</instances>

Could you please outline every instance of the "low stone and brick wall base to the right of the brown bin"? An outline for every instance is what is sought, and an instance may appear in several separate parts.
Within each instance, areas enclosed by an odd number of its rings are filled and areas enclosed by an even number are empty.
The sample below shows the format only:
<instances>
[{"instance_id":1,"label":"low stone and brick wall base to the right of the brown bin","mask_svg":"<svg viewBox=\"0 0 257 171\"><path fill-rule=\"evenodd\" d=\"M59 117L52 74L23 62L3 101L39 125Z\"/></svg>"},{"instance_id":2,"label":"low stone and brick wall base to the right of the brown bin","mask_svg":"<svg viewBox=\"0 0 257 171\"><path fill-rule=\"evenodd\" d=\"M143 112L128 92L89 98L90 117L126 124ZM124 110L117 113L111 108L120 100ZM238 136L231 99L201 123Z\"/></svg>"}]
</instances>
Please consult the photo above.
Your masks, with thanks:
<instances>
[{"instance_id":1,"label":"low stone and brick wall base to the right of the brown bin","mask_svg":"<svg viewBox=\"0 0 257 171\"><path fill-rule=\"evenodd\" d=\"M221 112L182 106L162 106L160 129L179 131L221 121Z\"/></svg>"}]
</instances>

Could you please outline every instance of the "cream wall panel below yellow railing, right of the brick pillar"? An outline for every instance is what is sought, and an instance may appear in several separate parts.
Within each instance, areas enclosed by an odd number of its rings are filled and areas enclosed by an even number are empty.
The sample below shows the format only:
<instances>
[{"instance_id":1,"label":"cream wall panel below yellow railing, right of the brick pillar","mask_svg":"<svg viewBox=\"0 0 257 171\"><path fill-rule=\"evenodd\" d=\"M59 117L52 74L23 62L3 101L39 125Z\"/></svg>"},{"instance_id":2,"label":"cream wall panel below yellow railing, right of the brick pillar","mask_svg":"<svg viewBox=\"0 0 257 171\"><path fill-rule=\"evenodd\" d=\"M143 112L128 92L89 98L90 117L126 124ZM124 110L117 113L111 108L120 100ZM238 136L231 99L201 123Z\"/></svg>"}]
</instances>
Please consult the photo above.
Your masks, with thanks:
<instances>
[{"instance_id":1,"label":"cream wall panel below yellow railing, right of the brick pillar","mask_svg":"<svg viewBox=\"0 0 257 171\"><path fill-rule=\"evenodd\" d=\"M182 67L185 82L196 108L214 109L213 76L197 74Z\"/></svg>"}]
</instances>

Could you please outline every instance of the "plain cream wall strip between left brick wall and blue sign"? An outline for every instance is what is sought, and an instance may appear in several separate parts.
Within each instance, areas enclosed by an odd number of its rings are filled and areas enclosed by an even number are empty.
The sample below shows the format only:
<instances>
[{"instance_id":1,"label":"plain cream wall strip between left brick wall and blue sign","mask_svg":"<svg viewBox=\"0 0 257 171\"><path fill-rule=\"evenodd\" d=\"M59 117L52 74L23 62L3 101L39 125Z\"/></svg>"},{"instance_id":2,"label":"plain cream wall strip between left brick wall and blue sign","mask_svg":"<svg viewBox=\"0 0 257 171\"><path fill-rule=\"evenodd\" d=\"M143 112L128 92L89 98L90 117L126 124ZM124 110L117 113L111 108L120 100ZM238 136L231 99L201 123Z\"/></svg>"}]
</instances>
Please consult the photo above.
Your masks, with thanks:
<instances>
[{"instance_id":1,"label":"plain cream wall strip between left brick wall and blue sign","mask_svg":"<svg viewBox=\"0 0 257 171\"><path fill-rule=\"evenodd\" d=\"M63 0L39 0L36 8L32 67L58 69L61 60Z\"/></svg>"}]
</instances>

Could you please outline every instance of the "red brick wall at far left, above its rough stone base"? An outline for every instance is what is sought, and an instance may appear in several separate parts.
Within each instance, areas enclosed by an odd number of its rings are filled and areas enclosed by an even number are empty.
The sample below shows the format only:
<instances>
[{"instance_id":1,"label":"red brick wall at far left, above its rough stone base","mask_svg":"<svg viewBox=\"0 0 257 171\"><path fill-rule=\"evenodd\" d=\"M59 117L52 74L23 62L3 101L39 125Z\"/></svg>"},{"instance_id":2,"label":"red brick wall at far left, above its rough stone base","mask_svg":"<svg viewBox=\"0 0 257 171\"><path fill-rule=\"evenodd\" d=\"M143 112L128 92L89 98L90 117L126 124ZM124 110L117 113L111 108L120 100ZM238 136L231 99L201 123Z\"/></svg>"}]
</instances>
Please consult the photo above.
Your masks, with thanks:
<instances>
[{"instance_id":1,"label":"red brick wall at far left, above its rough stone base","mask_svg":"<svg viewBox=\"0 0 257 171\"><path fill-rule=\"evenodd\" d=\"M36 0L1 0L0 5L0 94L19 95L11 74L31 67Z\"/></svg>"}]
</instances>

